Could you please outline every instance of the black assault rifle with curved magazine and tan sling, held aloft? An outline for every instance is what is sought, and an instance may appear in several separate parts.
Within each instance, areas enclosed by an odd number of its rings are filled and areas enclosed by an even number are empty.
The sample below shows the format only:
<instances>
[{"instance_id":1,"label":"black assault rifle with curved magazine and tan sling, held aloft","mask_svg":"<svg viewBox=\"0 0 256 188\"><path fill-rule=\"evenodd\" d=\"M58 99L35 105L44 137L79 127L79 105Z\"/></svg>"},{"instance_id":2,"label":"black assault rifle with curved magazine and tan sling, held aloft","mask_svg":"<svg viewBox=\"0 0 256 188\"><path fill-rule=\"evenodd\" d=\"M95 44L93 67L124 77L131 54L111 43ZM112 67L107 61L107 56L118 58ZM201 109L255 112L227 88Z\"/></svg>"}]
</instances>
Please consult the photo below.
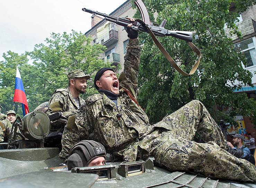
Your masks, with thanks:
<instances>
[{"instance_id":1,"label":"black assault rifle with curved magazine and tan sling, held aloft","mask_svg":"<svg viewBox=\"0 0 256 188\"><path fill-rule=\"evenodd\" d=\"M193 33L191 31L173 31L173 30L165 29L164 27L165 27L166 22L167 22L165 19L162 20L160 25L152 24L150 22L150 20L149 20L148 11L147 11L144 3L142 2L142 0L136 0L136 1L134 1L134 3L136 4L137 8L139 9L140 15L141 15L141 18L142 18L142 20L136 19L134 22L132 22L129 19L126 19L126 18L106 15L104 13L100 13L100 12L93 11L93 10L86 9L86 8L83 8L82 10L85 11L85 12L92 13L91 18L94 18L95 15L100 15L100 16L105 17L105 19L107 21L114 22L117 25L126 27L128 24L132 23L132 27L131 27L132 30L148 32L150 34L150 36L152 37L153 41L155 42L155 44L157 45L157 47L162 52L162 54L167 58L167 60L171 63L171 65L179 73L181 73L184 76L188 76L188 75L194 74L196 69L197 69L197 67L198 67L198 65L199 65L199 63L200 63L201 52L192 43ZM179 66L176 64L176 62L173 60L173 58L171 58L171 56L168 54L168 52L165 50L165 48L158 41L156 36L160 36L160 37L173 36L175 38L187 41L188 45L192 48L192 50L199 57L197 62L195 63L195 65L193 66L193 68L191 69L189 74L185 73L184 71L182 71L182 69L179 68Z\"/></svg>"}]
</instances>

